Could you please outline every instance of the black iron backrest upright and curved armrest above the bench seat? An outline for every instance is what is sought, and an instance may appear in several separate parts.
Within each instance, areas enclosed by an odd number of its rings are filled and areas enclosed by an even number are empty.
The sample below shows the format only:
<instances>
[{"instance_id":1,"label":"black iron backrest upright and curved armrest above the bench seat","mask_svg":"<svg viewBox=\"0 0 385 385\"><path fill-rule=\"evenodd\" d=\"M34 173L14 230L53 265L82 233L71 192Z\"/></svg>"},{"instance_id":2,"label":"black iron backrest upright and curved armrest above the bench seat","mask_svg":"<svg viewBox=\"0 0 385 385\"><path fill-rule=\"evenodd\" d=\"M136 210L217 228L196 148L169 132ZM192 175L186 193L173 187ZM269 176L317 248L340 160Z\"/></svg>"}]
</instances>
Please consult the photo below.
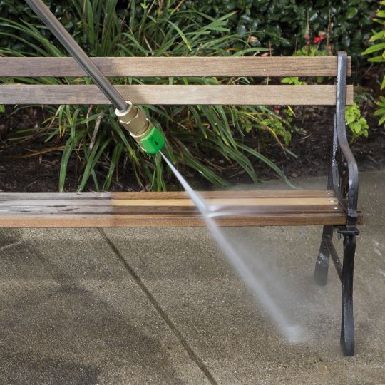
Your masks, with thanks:
<instances>
[{"instance_id":1,"label":"black iron backrest upright and curved armrest above the bench seat","mask_svg":"<svg viewBox=\"0 0 385 385\"><path fill-rule=\"evenodd\" d=\"M347 139L345 109L347 102L347 53L337 53L337 103L334 116L332 151L332 178L329 184L339 202L347 211L347 228L354 230L357 223L359 189L358 167Z\"/></svg>"}]
</instances>

